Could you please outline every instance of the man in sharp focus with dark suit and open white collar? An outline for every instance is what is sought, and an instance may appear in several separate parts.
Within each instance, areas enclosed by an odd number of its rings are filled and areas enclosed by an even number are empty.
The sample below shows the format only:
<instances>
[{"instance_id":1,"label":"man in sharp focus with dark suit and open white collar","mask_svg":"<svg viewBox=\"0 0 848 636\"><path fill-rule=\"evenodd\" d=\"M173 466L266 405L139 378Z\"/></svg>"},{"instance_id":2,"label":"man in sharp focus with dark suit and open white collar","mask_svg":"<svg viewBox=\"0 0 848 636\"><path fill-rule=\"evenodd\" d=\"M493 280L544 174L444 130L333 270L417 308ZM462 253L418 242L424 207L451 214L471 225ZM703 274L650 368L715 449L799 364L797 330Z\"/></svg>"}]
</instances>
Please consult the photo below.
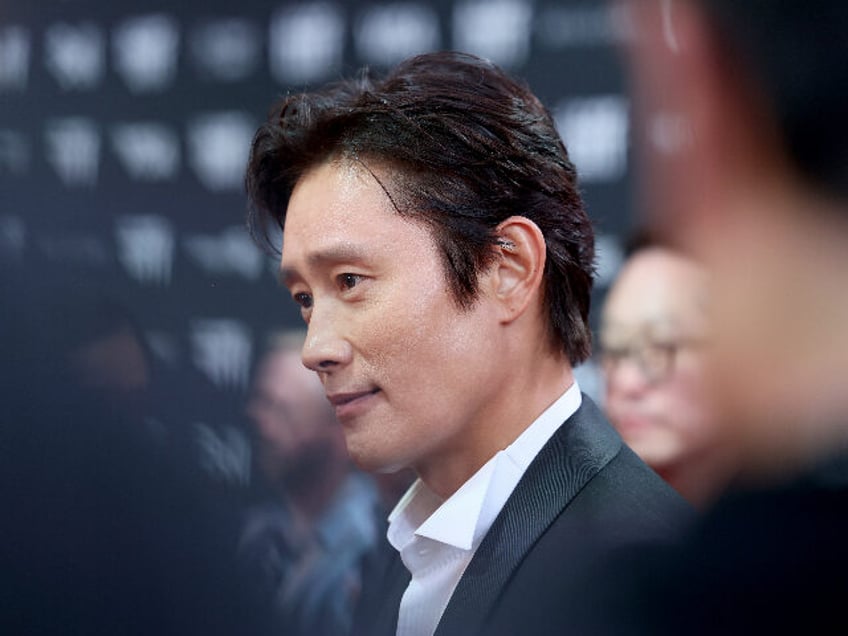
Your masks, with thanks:
<instances>
[{"instance_id":1,"label":"man in sharp focus with dark suit and open white collar","mask_svg":"<svg viewBox=\"0 0 848 636\"><path fill-rule=\"evenodd\" d=\"M598 555L673 533L688 506L574 383L592 229L527 88L433 53L286 98L247 184L348 452L419 477L355 633L561 632Z\"/></svg>"}]
</instances>

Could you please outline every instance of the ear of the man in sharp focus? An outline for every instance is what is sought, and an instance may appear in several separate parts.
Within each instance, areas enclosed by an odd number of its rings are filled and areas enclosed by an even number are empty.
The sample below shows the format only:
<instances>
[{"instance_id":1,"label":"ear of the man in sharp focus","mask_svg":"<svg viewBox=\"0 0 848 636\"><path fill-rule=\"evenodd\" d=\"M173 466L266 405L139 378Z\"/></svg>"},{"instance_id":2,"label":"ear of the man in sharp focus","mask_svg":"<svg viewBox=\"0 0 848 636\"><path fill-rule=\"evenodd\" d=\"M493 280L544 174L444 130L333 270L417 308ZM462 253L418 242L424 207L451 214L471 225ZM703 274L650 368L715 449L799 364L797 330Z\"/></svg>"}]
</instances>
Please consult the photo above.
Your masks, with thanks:
<instances>
[{"instance_id":1,"label":"ear of the man in sharp focus","mask_svg":"<svg viewBox=\"0 0 848 636\"><path fill-rule=\"evenodd\" d=\"M491 290L501 304L504 322L511 322L538 297L547 246L539 226L527 217L509 217L498 225L496 233L497 258L490 271Z\"/></svg>"}]
</instances>

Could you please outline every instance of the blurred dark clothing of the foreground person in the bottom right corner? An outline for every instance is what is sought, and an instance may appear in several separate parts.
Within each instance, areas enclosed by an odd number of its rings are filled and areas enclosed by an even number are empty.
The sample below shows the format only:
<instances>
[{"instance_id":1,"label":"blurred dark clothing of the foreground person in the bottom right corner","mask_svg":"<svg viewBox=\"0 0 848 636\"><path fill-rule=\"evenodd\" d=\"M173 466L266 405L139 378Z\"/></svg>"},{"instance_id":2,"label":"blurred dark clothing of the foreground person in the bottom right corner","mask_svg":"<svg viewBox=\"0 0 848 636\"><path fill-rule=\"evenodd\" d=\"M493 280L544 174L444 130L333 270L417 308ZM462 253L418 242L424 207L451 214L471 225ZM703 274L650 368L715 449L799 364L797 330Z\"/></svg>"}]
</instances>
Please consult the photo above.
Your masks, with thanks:
<instances>
[{"instance_id":1,"label":"blurred dark clothing of the foreground person in the bottom right corner","mask_svg":"<svg viewBox=\"0 0 848 636\"><path fill-rule=\"evenodd\" d=\"M848 451L735 484L681 546L628 557L598 636L848 634ZM614 598L613 598L614 595Z\"/></svg>"}]
</instances>

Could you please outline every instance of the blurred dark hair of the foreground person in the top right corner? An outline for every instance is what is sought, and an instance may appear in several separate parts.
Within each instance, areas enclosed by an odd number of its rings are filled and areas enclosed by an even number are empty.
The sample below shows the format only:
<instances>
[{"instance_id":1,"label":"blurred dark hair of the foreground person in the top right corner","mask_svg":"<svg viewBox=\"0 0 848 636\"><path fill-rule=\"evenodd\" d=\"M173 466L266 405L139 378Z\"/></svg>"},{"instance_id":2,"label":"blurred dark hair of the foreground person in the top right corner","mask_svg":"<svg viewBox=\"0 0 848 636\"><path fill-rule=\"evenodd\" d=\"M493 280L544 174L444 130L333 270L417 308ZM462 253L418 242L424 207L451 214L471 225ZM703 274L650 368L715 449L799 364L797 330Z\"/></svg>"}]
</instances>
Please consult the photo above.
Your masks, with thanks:
<instances>
[{"instance_id":1,"label":"blurred dark hair of the foreground person in the top right corner","mask_svg":"<svg viewBox=\"0 0 848 636\"><path fill-rule=\"evenodd\" d=\"M787 155L807 179L848 196L848 3L700 0L769 101Z\"/></svg>"}]
</instances>

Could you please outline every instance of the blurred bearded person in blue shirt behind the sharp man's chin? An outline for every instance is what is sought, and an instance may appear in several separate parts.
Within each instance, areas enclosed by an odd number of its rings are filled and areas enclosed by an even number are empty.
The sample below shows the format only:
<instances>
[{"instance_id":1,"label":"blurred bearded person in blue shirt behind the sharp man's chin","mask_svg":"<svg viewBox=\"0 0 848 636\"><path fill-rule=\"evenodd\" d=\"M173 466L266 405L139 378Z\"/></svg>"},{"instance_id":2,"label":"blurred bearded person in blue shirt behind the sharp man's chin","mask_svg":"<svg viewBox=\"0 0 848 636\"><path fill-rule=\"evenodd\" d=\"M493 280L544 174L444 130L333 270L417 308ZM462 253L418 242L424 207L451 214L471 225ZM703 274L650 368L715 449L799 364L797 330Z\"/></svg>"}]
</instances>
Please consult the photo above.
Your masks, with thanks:
<instances>
[{"instance_id":1,"label":"blurred bearded person in blue shirt behind the sharp man's chin","mask_svg":"<svg viewBox=\"0 0 848 636\"><path fill-rule=\"evenodd\" d=\"M253 382L247 411L267 493L247 512L239 549L271 633L342 636L383 524L374 484L353 468L300 360L304 335L273 336Z\"/></svg>"}]
</instances>

